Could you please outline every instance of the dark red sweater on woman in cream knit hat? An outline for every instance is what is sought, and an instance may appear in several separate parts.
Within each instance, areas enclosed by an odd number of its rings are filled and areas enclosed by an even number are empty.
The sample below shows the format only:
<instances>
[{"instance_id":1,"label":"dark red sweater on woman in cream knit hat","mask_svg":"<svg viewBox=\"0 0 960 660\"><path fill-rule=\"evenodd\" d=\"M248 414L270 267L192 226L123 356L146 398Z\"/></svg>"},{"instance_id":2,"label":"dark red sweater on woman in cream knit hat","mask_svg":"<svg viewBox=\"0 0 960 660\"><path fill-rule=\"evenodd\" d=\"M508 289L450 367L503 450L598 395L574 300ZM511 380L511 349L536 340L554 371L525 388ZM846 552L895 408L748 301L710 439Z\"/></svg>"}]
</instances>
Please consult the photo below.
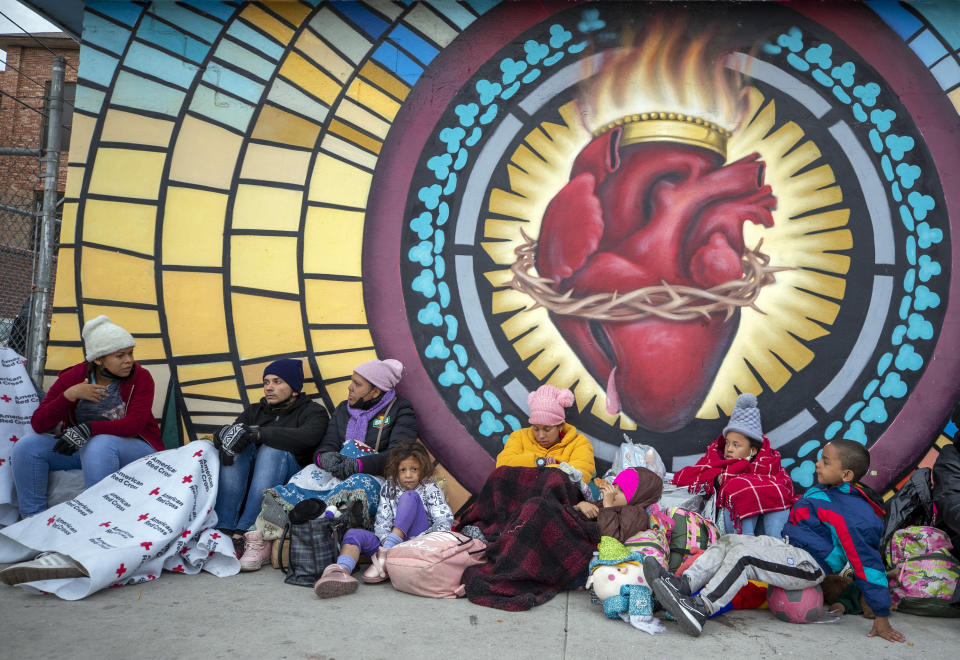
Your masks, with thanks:
<instances>
[{"instance_id":1,"label":"dark red sweater on woman in cream knit hat","mask_svg":"<svg viewBox=\"0 0 960 660\"><path fill-rule=\"evenodd\" d=\"M84 383L89 374L86 362L75 364L61 371L56 382L43 397L40 406L33 412L30 420L33 430L37 433L49 433L61 422L66 426L76 424L74 410L76 401L70 401L63 393L77 385ZM153 416L153 377L150 372L134 363L130 377L120 381L120 398L127 405L127 414L120 419L105 419L97 422L88 422L93 435L107 433L132 438L139 436L157 451L163 451L163 440L160 437L160 426Z\"/></svg>"}]
</instances>

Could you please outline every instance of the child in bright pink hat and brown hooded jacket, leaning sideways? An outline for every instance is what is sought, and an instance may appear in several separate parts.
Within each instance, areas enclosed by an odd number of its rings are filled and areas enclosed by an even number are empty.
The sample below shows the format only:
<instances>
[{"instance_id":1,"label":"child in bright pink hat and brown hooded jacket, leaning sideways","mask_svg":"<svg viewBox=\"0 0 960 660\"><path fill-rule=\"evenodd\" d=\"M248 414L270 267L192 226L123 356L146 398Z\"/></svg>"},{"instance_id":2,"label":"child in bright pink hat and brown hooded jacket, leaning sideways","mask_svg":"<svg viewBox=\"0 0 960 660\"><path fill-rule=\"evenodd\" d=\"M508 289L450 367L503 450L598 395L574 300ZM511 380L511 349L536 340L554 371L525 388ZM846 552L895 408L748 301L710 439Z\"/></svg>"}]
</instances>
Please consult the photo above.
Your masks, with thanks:
<instances>
[{"instance_id":1,"label":"child in bright pink hat and brown hooded jacket, leaning sideways","mask_svg":"<svg viewBox=\"0 0 960 660\"><path fill-rule=\"evenodd\" d=\"M613 483L600 486L600 502L578 502L574 508L596 519L600 536L626 543L650 526L647 507L660 500L663 480L647 468L624 468Z\"/></svg>"}]
</instances>

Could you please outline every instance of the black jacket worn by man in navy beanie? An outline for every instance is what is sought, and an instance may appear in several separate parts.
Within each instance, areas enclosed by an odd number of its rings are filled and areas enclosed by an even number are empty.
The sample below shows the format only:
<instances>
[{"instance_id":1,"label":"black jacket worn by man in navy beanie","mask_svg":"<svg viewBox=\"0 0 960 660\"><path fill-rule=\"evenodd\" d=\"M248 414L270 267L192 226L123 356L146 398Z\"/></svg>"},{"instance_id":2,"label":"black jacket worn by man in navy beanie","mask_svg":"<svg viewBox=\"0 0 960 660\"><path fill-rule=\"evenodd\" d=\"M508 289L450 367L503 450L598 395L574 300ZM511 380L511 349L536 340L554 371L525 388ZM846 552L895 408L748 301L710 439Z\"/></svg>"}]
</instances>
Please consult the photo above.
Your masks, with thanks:
<instances>
[{"instance_id":1,"label":"black jacket worn by man in navy beanie","mask_svg":"<svg viewBox=\"0 0 960 660\"><path fill-rule=\"evenodd\" d=\"M289 408L275 412L260 399L237 417L237 422L260 428L258 445L266 445L293 454L300 466L307 465L320 444L330 422L327 409L302 394Z\"/></svg>"}]
</instances>

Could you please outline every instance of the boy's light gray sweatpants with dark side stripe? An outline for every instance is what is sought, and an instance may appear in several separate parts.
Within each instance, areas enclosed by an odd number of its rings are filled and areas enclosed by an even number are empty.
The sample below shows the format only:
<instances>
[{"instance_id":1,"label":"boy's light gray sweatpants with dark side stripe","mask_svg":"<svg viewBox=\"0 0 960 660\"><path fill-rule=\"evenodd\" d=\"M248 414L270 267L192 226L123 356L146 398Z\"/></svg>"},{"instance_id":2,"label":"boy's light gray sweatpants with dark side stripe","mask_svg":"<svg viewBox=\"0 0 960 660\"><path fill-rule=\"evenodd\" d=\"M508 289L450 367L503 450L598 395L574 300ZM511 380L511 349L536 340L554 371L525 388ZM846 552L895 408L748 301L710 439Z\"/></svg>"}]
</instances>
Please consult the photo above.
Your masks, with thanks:
<instances>
[{"instance_id":1,"label":"boy's light gray sweatpants with dark side stripe","mask_svg":"<svg viewBox=\"0 0 960 660\"><path fill-rule=\"evenodd\" d=\"M772 536L724 534L685 572L690 589L711 613L733 600L747 580L784 589L806 589L823 581L823 569L806 550Z\"/></svg>"}]
</instances>

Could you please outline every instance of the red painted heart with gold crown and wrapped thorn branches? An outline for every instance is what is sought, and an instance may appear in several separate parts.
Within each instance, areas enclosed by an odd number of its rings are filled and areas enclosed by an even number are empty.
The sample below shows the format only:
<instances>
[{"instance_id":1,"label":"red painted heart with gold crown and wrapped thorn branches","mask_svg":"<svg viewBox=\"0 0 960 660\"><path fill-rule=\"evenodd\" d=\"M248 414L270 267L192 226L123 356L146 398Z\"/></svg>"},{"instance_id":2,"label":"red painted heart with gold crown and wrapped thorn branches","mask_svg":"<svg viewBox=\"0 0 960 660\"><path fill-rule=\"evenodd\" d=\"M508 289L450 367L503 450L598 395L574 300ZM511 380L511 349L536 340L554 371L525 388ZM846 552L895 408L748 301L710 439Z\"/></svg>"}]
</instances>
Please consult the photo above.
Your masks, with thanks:
<instances>
[{"instance_id":1,"label":"red painted heart with gold crown and wrapped thorn branches","mask_svg":"<svg viewBox=\"0 0 960 660\"><path fill-rule=\"evenodd\" d=\"M686 425L779 268L743 225L773 225L776 197L752 154L726 163L729 130L674 112L593 131L552 198L514 286L546 307L606 407L653 431ZM539 276L530 275L536 267Z\"/></svg>"}]
</instances>

